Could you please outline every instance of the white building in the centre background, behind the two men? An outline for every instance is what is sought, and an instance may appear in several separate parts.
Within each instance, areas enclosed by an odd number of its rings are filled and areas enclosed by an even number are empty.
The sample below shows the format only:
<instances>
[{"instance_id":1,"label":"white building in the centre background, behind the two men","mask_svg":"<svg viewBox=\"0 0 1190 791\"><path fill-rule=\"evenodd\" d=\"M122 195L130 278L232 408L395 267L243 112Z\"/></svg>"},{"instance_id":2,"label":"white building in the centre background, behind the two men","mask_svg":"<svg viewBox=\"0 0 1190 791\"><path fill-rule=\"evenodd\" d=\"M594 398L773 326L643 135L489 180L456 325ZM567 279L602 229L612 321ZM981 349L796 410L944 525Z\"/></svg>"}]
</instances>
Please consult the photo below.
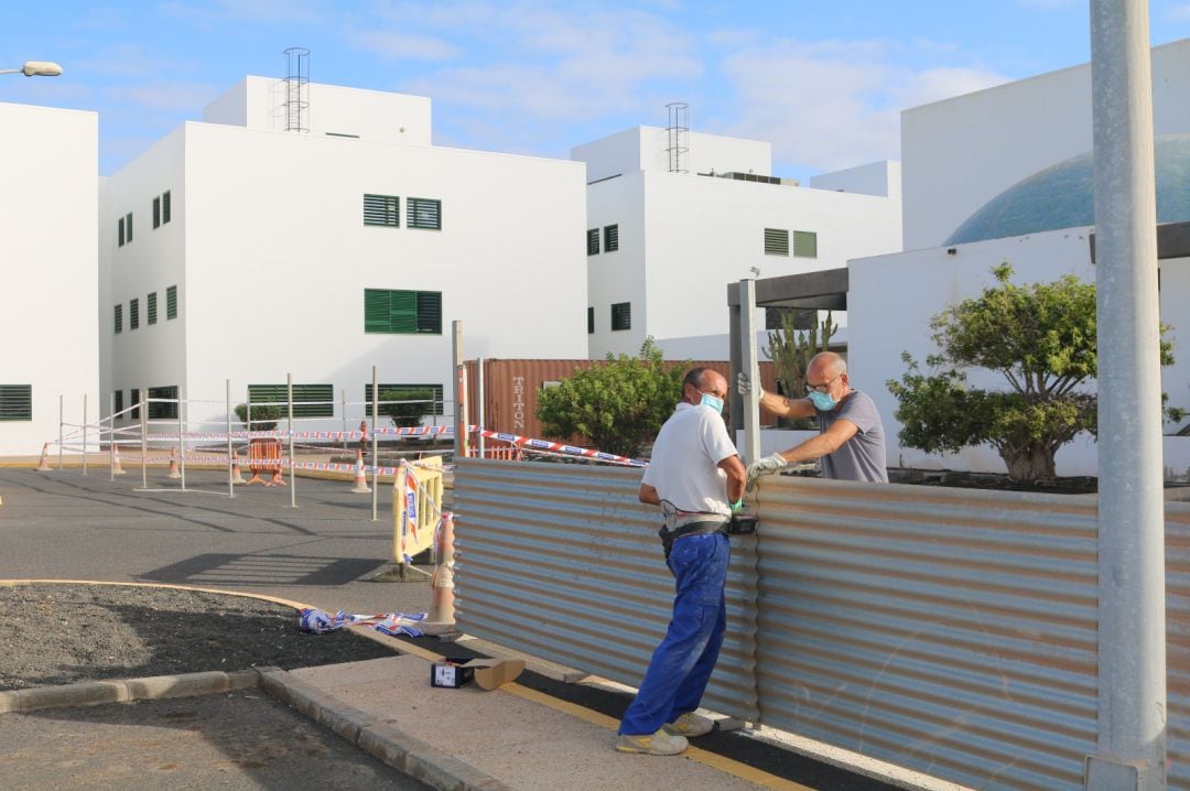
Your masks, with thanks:
<instances>
[{"instance_id":1,"label":"white building in the centre background, behind the two men","mask_svg":"<svg viewBox=\"0 0 1190 791\"><path fill-rule=\"evenodd\" d=\"M674 139L639 126L571 150L587 163L590 357L652 335L666 357L726 359L728 283L902 249L896 162L798 187L770 175L768 143L693 132L677 155Z\"/></svg>"}]
</instances>

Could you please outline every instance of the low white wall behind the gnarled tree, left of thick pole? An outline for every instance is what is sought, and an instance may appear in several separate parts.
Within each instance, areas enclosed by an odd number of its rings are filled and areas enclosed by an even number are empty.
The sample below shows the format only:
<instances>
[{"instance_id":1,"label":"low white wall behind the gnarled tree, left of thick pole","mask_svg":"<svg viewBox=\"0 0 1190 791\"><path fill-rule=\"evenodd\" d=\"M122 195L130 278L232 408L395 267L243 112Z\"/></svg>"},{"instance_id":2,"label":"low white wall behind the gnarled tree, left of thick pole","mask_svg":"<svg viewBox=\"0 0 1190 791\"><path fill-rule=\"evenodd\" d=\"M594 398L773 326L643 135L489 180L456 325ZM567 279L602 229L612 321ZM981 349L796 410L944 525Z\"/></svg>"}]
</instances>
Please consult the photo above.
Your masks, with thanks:
<instances>
[{"instance_id":1,"label":"low white wall behind the gnarled tree, left of thick pole","mask_svg":"<svg viewBox=\"0 0 1190 791\"><path fill-rule=\"evenodd\" d=\"M890 466L1004 472L1000 456L990 447L965 448L958 454L937 457L914 448L902 448L900 423L892 416L897 401L888 391L889 379L906 371L901 352L908 351L925 370L926 357L935 351L929 320L950 305L977 296L994 285L991 269L1003 262L1013 265L1014 283L1045 283L1073 274L1091 282L1090 228L1051 231L1010 239L994 239L957 247L957 255L933 247L891 256L852 260L847 313L851 344L847 368L852 384L876 402L888 434ZM973 387L1002 385L998 373L975 371ZM1078 438L1057 457L1058 475L1094 475L1094 445Z\"/></svg>"}]
</instances>

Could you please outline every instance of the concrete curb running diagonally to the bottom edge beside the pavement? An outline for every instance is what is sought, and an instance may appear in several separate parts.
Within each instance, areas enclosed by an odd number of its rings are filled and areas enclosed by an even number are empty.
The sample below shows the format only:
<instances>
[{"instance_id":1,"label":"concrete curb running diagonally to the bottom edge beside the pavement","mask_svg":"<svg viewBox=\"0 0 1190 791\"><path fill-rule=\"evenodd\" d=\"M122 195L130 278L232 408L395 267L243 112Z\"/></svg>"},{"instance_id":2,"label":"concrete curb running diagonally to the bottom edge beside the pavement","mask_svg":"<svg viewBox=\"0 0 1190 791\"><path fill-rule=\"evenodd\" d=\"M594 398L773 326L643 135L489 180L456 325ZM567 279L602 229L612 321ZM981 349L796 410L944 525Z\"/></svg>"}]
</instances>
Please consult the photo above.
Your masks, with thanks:
<instances>
[{"instance_id":1,"label":"concrete curb running diagonally to the bottom edge beside the pavement","mask_svg":"<svg viewBox=\"0 0 1190 791\"><path fill-rule=\"evenodd\" d=\"M346 705L283 670L261 671L261 689L389 766L441 791L513 791L512 786Z\"/></svg>"}]
</instances>

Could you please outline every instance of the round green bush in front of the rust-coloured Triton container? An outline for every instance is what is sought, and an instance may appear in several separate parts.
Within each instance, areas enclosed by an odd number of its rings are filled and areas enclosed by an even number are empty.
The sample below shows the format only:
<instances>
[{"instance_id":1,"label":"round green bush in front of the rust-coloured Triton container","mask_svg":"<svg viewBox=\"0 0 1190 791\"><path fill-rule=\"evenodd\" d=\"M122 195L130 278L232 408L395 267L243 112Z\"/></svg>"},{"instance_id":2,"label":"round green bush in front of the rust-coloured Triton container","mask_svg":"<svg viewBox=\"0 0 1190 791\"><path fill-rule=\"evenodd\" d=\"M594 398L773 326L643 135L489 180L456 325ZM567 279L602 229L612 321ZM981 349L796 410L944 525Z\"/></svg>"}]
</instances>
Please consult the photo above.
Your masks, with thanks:
<instances>
[{"instance_id":1,"label":"round green bush in front of the rust-coloured Triton container","mask_svg":"<svg viewBox=\"0 0 1190 791\"><path fill-rule=\"evenodd\" d=\"M652 337L637 357L607 356L538 394L537 416L550 437L581 435L607 453L637 457L682 398L685 369L666 364Z\"/></svg>"}]
</instances>

